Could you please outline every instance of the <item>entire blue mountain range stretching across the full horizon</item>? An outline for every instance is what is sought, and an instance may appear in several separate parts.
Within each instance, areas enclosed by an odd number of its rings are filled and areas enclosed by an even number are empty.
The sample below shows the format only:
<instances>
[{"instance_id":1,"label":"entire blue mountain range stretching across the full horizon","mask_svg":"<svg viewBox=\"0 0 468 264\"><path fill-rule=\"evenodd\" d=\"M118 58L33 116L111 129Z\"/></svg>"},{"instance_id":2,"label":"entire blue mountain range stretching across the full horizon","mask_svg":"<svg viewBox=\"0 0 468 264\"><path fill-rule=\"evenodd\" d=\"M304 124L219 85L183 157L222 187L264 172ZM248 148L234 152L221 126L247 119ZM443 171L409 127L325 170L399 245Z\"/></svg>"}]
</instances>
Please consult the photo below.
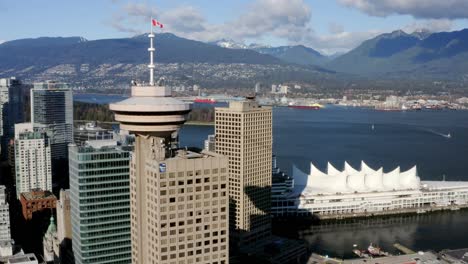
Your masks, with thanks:
<instances>
[{"instance_id":1,"label":"entire blue mountain range stretching across the full horizon","mask_svg":"<svg viewBox=\"0 0 468 264\"><path fill-rule=\"evenodd\" d=\"M89 75L93 70L96 76L107 73L138 76L141 72L130 73L129 69L148 63L147 47L146 35L102 40L82 37L13 40L0 44L0 76L24 75L40 79L47 75L45 73L53 77L50 73L57 72L57 69L64 78L68 73L81 78L80 74ZM279 72L281 78L295 76L295 80L322 73L335 78L352 74L375 79L460 80L468 79L468 29L440 33L417 31L412 34L394 31L364 41L337 57L325 56L303 45L269 47L244 45L231 40L204 43L162 33L156 36L155 59L158 63L190 64L188 68L177 68L185 71L185 77L181 75L181 78L190 78L196 69L194 65L202 63L224 65L225 68L226 65L244 65L244 69L240 69L245 71L255 68L256 74L245 73L252 78L251 81L255 81L253 76L259 74L275 79L280 76ZM106 70L96 72L103 67ZM146 70L145 67L140 68L139 71ZM269 69L274 70L270 72ZM233 73L226 74L233 75L229 76L231 79L236 78ZM217 76L219 80L228 78Z\"/></svg>"}]
</instances>

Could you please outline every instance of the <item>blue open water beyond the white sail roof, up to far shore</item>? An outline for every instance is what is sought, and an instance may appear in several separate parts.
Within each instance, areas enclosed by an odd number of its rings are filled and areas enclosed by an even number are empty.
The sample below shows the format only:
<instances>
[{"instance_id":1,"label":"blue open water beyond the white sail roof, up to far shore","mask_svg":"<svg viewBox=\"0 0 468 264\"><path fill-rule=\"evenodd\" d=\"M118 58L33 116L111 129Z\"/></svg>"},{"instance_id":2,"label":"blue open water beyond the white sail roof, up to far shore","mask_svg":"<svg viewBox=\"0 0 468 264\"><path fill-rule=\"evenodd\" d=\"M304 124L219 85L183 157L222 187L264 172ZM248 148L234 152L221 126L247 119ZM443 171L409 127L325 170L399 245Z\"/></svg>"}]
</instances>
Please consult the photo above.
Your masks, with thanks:
<instances>
[{"instance_id":1,"label":"blue open water beyond the white sail roof, up to far shore","mask_svg":"<svg viewBox=\"0 0 468 264\"><path fill-rule=\"evenodd\" d=\"M213 127L185 126L181 144L202 147L212 133ZM384 171L416 165L423 180L468 180L468 111L277 107L273 152L287 172L293 165L309 172L311 162L325 171L327 162L341 169L345 161L356 168L365 161Z\"/></svg>"}]
</instances>

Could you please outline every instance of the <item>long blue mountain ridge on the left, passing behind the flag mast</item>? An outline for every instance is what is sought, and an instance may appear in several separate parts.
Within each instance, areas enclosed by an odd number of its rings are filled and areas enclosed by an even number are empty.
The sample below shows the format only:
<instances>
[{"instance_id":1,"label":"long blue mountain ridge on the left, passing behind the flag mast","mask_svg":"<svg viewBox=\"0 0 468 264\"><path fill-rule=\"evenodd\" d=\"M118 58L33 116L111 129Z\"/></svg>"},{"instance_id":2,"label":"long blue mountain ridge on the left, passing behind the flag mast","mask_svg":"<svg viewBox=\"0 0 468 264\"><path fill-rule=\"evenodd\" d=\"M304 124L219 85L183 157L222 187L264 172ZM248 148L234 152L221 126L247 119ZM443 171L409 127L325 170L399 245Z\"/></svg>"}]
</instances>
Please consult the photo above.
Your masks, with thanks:
<instances>
[{"instance_id":1,"label":"long blue mountain ridge on the left, passing behind the flag mast","mask_svg":"<svg viewBox=\"0 0 468 264\"><path fill-rule=\"evenodd\" d=\"M155 59L161 63L282 63L279 59L252 50L225 49L170 33L158 34L155 45ZM92 41L81 37L20 39L0 44L0 67L147 63L147 48L146 35Z\"/></svg>"}]
</instances>

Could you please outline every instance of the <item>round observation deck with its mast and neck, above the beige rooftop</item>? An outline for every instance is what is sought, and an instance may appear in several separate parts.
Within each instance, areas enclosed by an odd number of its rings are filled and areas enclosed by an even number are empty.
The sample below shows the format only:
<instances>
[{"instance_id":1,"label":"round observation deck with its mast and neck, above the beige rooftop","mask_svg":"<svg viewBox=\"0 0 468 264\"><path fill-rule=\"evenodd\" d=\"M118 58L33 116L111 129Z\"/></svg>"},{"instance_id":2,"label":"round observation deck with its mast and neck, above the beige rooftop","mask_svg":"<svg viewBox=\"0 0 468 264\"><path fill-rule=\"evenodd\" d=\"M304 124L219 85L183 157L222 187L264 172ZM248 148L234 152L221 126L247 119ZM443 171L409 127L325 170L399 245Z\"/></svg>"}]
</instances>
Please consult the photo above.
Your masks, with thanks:
<instances>
[{"instance_id":1,"label":"round observation deck with its mast and neck, above the beige rooftop","mask_svg":"<svg viewBox=\"0 0 468 264\"><path fill-rule=\"evenodd\" d=\"M177 145L177 134L185 123L191 105L171 97L171 89L164 85L164 79L154 81L153 29L150 38L149 84L132 82L132 96L124 101L110 104L115 113L115 120L120 128L134 133L137 137L135 155L145 157L145 152L152 148L153 158L158 160L171 156ZM143 143L139 146L138 143ZM157 154L157 155L156 155ZM156 156L154 156L156 155Z\"/></svg>"}]
</instances>

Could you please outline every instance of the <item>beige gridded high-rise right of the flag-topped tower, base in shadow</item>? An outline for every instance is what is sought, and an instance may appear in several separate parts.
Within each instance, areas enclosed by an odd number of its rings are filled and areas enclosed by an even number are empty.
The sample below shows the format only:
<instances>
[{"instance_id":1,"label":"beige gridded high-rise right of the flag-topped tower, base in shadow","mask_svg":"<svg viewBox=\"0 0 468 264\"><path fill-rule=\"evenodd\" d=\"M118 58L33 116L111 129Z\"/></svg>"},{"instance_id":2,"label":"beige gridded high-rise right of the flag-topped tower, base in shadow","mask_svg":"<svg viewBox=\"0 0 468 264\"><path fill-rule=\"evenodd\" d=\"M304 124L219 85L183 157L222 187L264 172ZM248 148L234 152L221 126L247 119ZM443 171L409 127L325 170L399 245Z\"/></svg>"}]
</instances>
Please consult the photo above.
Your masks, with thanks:
<instances>
[{"instance_id":1,"label":"beige gridded high-rise right of the flag-topped tower, base in shadow","mask_svg":"<svg viewBox=\"0 0 468 264\"><path fill-rule=\"evenodd\" d=\"M216 152L229 157L233 244L271 235L272 110L250 98L215 109Z\"/></svg>"}]
</instances>

